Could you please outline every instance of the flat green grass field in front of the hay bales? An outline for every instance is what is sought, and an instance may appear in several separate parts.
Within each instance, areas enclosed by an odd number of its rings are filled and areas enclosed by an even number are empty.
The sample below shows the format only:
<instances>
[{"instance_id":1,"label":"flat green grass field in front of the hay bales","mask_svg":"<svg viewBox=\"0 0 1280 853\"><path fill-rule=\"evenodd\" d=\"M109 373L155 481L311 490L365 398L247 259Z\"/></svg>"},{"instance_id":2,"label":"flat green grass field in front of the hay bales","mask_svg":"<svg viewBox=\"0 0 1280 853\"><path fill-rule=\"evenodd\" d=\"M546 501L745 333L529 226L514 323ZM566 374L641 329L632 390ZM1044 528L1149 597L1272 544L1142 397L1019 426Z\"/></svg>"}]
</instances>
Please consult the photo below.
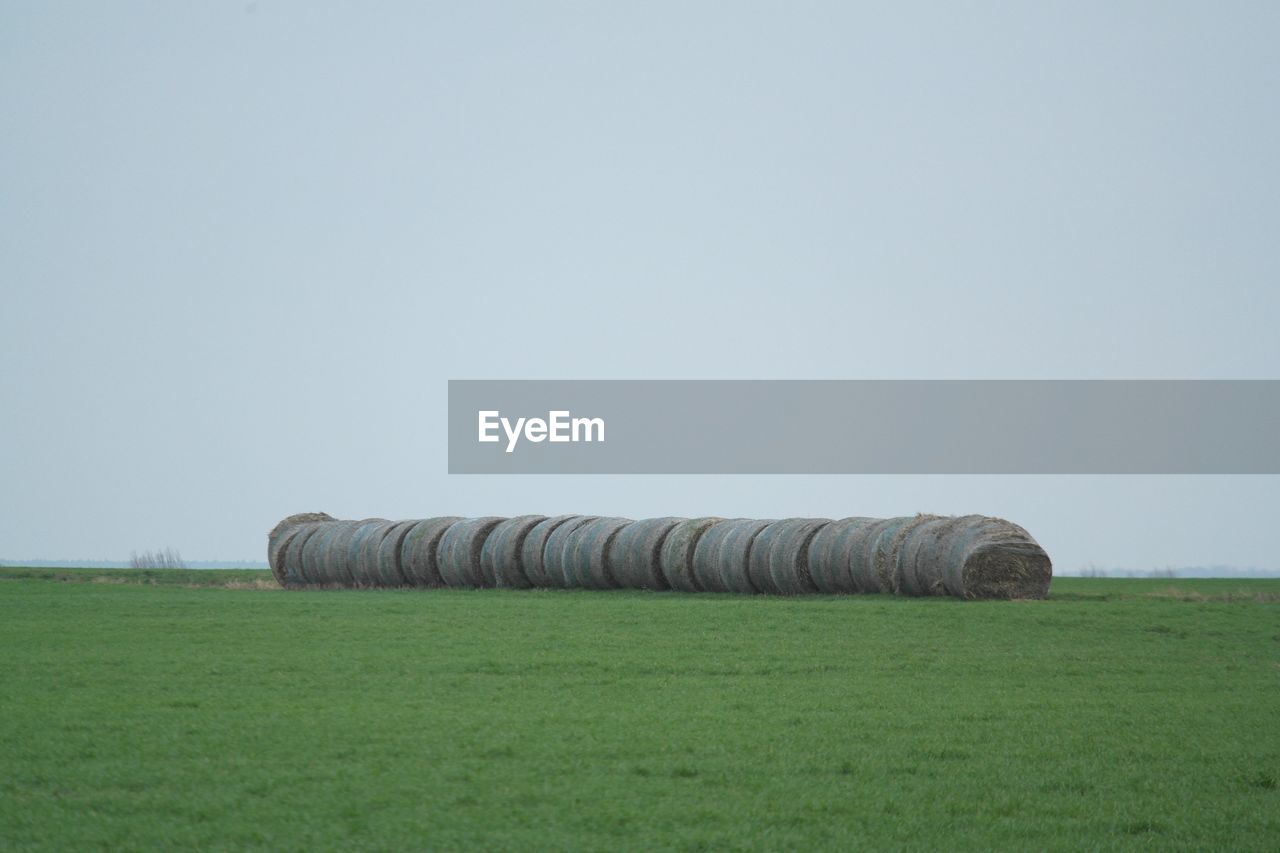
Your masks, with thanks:
<instances>
[{"instance_id":1,"label":"flat green grass field in front of the hay bales","mask_svg":"<svg viewBox=\"0 0 1280 853\"><path fill-rule=\"evenodd\" d=\"M1280 848L1280 581L0 569L0 848Z\"/></svg>"}]
</instances>

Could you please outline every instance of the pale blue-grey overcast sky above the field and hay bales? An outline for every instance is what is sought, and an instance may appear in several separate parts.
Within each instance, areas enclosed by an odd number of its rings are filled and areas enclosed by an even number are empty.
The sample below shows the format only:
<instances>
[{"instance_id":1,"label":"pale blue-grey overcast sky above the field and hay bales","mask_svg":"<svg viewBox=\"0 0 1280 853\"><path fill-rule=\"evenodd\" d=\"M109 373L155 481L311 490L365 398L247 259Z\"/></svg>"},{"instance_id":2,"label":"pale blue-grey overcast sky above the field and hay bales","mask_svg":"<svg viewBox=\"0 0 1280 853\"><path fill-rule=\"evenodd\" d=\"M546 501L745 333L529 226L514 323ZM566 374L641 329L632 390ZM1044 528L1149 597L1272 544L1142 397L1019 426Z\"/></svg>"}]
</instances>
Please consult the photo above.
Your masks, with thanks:
<instances>
[{"instance_id":1,"label":"pale blue-grey overcast sky above the field and hay bales","mask_svg":"<svg viewBox=\"0 0 1280 853\"><path fill-rule=\"evenodd\" d=\"M0 557L283 516L1000 515L1280 569L1275 476L466 476L448 379L1280 377L1280 5L0 6Z\"/></svg>"}]
</instances>

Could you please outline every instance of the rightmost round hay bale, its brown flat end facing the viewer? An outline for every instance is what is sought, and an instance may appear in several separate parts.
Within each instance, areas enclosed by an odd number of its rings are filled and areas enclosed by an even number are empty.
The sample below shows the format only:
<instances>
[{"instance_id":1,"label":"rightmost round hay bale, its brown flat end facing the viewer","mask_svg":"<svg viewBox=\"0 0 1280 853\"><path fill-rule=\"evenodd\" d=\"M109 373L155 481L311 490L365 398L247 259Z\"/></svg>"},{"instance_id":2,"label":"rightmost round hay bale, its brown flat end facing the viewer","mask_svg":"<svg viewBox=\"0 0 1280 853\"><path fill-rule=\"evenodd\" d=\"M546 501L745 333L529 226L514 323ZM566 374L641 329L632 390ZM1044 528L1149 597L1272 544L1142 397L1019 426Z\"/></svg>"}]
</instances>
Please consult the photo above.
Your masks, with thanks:
<instances>
[{"instance_id":1,"label":"rightmost round hay bale, its brown flat end facing the viewer","mask_svg":"<svg viewBox=\"0 0 1280 853\"><path fill-rule=\"evenodd\" d=\"M1005 519L966 519L959 556L943 570L947 592L961 598L1048 596L1053 565L1027 530Z\"/></svg>"}]
</instances>

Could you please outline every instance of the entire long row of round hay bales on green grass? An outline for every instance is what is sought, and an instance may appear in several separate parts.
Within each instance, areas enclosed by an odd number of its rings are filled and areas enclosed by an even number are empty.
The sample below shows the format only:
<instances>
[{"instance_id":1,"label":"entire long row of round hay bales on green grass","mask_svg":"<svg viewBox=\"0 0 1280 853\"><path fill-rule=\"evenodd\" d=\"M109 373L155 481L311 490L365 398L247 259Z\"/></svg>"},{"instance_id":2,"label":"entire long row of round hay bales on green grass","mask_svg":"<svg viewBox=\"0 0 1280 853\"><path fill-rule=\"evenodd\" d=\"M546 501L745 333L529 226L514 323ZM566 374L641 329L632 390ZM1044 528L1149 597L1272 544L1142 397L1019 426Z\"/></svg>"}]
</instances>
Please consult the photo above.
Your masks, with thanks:
<instances>
[{"instance_id":1,"label":"entire long row of round hay bales on green grass","mask_svg":"<svg viewBox=\"0 0 1280 853\"><path fill-rule=\"evenodd\" d=\"M983 515L897 519L445 516L302 512L268 534L282 587L673 589L773 596L1044 598L1027 530Z\"/></svg>"}]
</instances>

